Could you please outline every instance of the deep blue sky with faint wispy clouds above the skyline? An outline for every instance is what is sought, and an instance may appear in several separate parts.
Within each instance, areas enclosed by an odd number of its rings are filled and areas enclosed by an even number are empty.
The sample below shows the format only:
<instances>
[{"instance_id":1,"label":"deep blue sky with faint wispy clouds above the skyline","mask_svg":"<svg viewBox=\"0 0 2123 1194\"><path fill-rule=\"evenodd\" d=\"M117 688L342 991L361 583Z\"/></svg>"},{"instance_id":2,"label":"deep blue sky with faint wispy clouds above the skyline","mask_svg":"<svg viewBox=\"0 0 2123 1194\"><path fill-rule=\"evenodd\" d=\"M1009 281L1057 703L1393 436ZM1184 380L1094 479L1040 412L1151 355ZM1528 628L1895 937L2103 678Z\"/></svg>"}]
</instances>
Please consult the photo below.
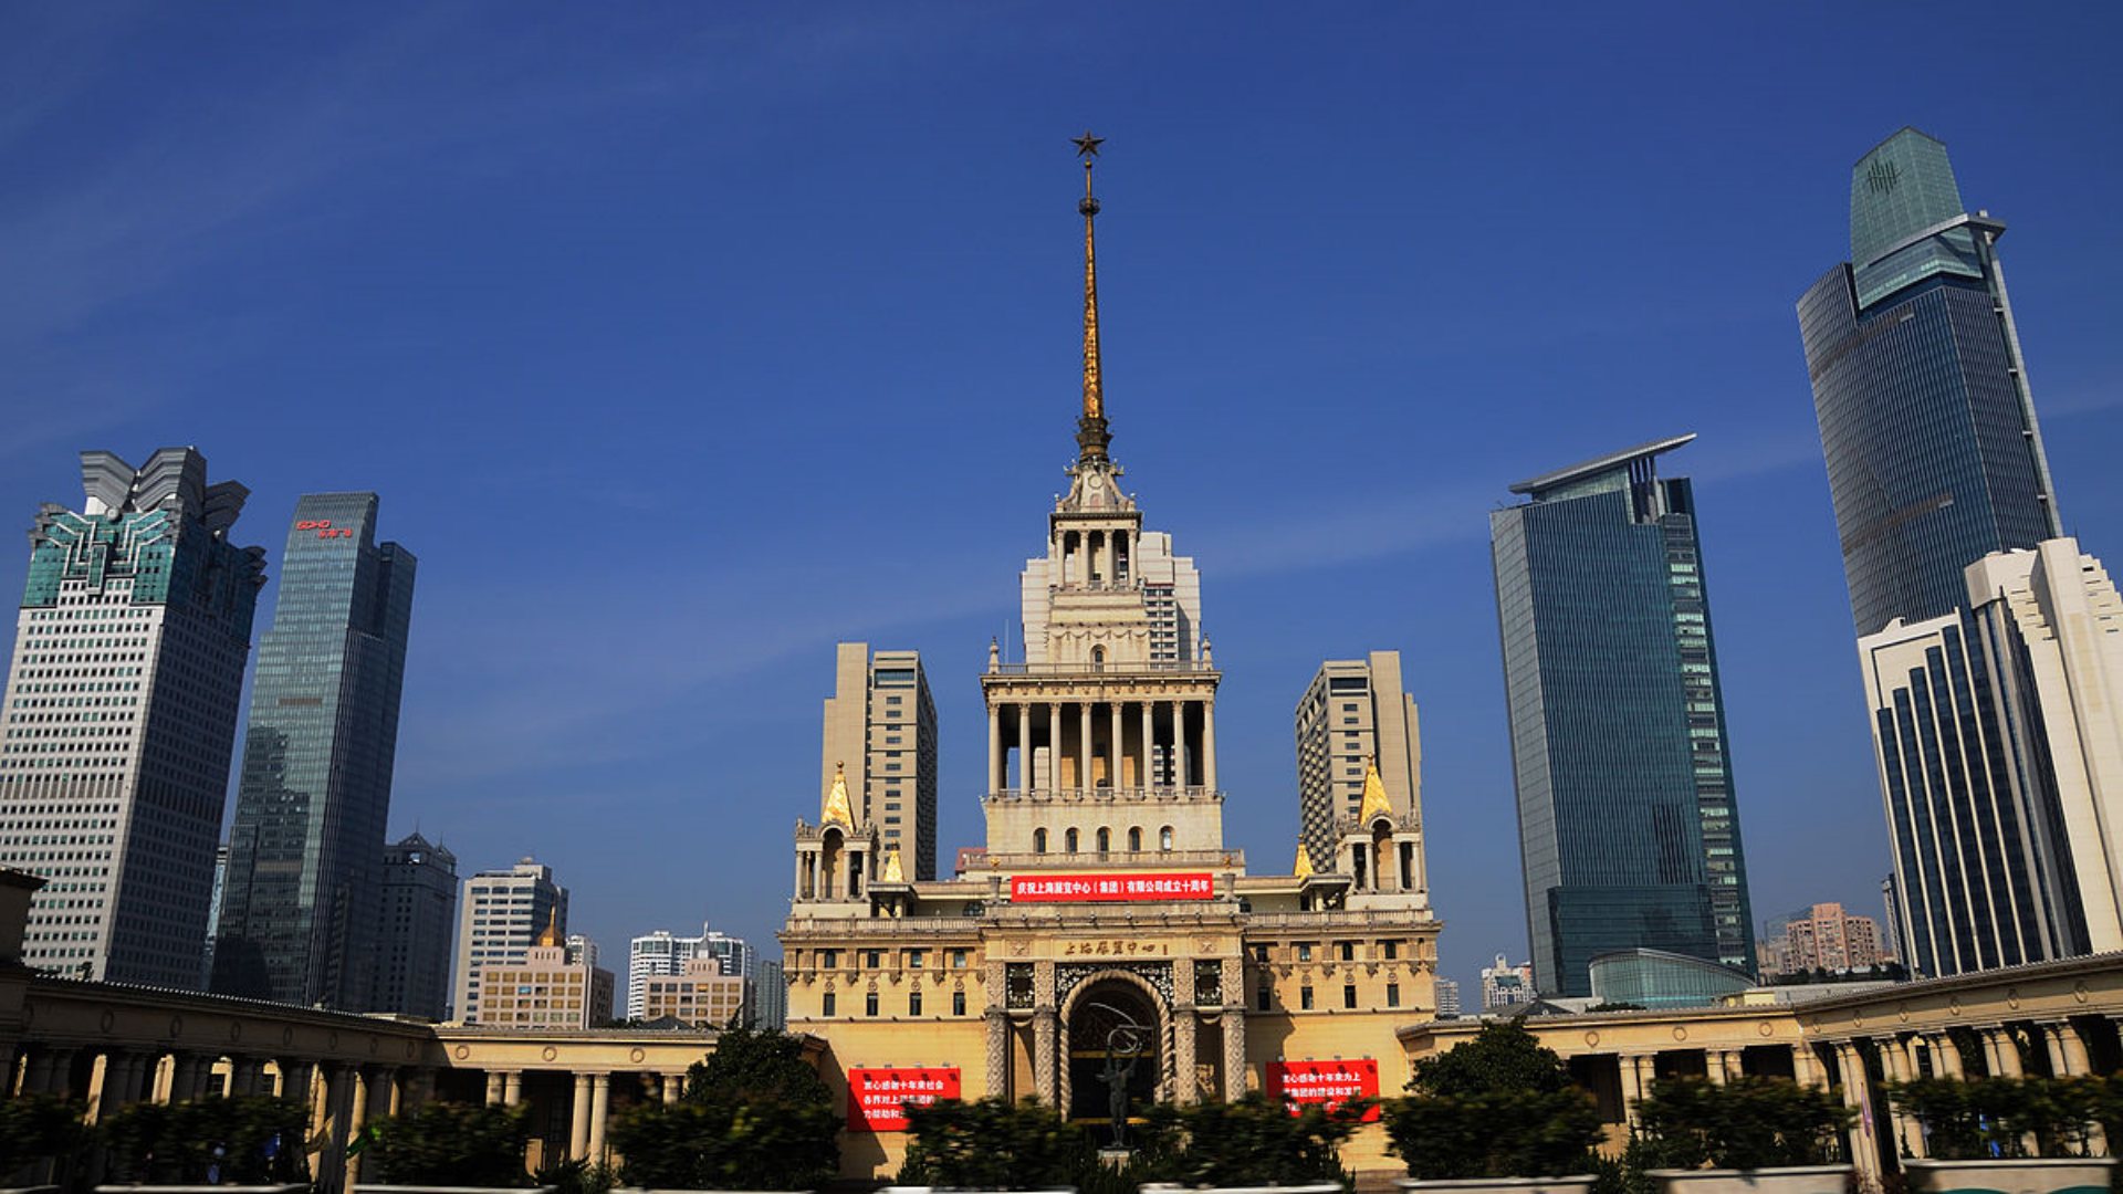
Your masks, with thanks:
<instances>
[{"instance_id":1,"label":"deep blue sky with faint wispy clouds above the skyline","mask_svg":"<svg viewBox=\"0 0 2123 1194\"><path fill-rule=\"evenodd\" d=\"M276 565L299 493L380 491L420 557L393 831L537 854L607 950L771 939L836 639L924 652L945 854L979 841L977 671L1074 450L1089 125L1115 455L1199 561L1253 867L1312 669L1399 648L1444 971L1522 956L1486 512L1698 431L1664 467L1756 914L1877 914L1792 304L1849 164L1945 138L2010 225L2066 521L2123 552L2123 11L2030 13L13 4L0 510L197 444Z\"/></svg>"}]
</instances>

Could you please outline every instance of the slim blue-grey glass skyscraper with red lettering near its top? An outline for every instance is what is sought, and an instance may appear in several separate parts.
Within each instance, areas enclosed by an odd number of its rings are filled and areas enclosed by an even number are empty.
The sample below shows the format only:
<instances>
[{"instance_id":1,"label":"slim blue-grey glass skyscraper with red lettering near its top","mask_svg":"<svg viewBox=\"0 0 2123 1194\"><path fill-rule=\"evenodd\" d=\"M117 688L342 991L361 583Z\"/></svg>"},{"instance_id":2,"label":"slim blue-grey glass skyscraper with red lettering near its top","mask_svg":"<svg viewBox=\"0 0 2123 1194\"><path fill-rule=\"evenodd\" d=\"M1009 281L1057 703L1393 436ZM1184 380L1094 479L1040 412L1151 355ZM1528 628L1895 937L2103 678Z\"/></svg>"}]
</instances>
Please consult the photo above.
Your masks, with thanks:
<instances>
[{"instance_id":1,"label":"slim blue-grey glass skyscraper with red lettering near its top","mask_svg":"<svg viewBox=\"0 0 2123 1194\"><path fill-rule=\"evenodd\" d=\"M367 1009L416 561L374 493L308 493L259 642L214 990Z\"/></svg>"}]
</instances>

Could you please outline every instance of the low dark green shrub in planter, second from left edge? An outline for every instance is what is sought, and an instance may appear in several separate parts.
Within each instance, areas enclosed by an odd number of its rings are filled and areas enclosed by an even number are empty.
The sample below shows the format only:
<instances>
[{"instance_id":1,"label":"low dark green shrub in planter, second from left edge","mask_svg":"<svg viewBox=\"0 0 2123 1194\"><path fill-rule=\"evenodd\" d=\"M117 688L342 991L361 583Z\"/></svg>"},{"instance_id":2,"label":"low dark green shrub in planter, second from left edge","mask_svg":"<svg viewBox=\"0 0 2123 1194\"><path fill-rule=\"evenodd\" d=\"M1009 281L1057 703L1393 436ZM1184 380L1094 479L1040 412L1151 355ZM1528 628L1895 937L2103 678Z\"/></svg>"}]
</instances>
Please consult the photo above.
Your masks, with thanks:
<instances>
[{"instance_id":1,"label":"low dark green shrub in planter, second from left edge","mask_svg":"<svg viewBox=\"0 0 2123 1194\"><path fill-rule=\"evenodd\" d=\"M130 1103L98 1126L115 1181L267 1183L308 1181L295 1098L246 1094L191 1103Z\"/></svg>"}]
</instances>

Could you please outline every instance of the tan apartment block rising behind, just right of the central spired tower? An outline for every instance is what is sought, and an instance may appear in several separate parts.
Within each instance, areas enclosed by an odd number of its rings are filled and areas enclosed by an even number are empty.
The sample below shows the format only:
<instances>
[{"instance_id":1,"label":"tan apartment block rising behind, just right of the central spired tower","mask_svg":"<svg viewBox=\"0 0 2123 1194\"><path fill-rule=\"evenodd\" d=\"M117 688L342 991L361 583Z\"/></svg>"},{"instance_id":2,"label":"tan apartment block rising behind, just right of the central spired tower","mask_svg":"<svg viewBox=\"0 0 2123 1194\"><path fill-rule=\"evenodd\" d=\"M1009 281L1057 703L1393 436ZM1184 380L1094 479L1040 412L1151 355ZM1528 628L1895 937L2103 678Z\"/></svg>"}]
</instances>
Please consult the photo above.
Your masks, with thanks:
<instances>
[{"instance_id":1,"label":"tan apartment block rising behind, just right of the central spired tower","mask_svg":"<svg viewBox=\"0 0 2123 1194\"><path fill-rule=\"evenodd\" d=\"M1297 701L1295 724L1297 812L1314 867L1333 867L1335 824L1363 807L1371 761L1393 807L1422 807L1422 735L1416 699L1401 688L1401 652L1323 663Z\"/></svg>"}]
</instances>

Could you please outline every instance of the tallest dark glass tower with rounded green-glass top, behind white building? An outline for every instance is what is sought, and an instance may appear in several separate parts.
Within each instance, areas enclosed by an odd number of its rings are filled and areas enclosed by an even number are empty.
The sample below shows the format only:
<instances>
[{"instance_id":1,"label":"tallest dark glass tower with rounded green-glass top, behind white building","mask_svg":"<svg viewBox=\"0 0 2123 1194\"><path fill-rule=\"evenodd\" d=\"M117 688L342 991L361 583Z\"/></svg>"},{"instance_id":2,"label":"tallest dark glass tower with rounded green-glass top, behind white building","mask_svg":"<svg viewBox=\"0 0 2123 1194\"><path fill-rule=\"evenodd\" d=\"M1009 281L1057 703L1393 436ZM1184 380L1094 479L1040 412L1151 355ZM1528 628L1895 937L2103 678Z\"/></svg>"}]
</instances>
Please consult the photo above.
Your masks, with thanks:
<instances>
[{"instance_id":1,"label":"tallest dark glass tower with rounded green-glass top, behind white building","mask_svg":"<svg viewBox=\"0 0 2123 1194\"><path fill-rule=\"evenodd\" d=\"M1851 259L1798 300L1860 635L1957 610L1970 563L2064 533L2002 234L1904 127L1851 170Z\"/></svg>"}]
</instances>

